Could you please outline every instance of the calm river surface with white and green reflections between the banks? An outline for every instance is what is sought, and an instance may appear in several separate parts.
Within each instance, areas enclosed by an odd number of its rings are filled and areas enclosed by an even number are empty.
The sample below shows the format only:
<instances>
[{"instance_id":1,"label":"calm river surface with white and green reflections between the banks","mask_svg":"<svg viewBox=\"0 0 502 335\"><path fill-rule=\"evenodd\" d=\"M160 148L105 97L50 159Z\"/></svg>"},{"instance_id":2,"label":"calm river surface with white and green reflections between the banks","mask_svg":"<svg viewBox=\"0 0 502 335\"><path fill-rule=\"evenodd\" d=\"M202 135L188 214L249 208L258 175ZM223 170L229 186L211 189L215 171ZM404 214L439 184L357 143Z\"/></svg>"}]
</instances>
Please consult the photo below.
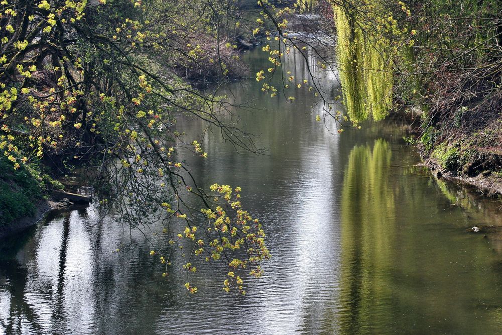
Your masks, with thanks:
<instances>
[{"instance_id":1,"label":"calm river surface with white and green reflections between the banks","mask_svg":"<svg viewBox=\"0 0 502 335\"><path fill-rule=\"evenodd\" d=\"M246 57L253 72L268 67L261 50ZM300 57L285 67L307 70ZM338 95L334 74L319 75ZM176 267L161 276L142 234L124 233L113 216L99 221L90 206L0 241L0 333L500 333L498 235L465 231L502 225L500 203L417 166L399 120L333 135L318 111L307 113L311 93L286 103L260 88L249 80L226 92L255 97L256 109L239 113L266 155L237 153L216 133L197 137L202 123L179 121L208 153L186 157L202 186L241 186L266 224L273 258L245 296L225 293L224 272L204 264L191 281L199 292L187 294ZM131 247L113 253L121 243Z\"/></svg>"}]
</instances>

